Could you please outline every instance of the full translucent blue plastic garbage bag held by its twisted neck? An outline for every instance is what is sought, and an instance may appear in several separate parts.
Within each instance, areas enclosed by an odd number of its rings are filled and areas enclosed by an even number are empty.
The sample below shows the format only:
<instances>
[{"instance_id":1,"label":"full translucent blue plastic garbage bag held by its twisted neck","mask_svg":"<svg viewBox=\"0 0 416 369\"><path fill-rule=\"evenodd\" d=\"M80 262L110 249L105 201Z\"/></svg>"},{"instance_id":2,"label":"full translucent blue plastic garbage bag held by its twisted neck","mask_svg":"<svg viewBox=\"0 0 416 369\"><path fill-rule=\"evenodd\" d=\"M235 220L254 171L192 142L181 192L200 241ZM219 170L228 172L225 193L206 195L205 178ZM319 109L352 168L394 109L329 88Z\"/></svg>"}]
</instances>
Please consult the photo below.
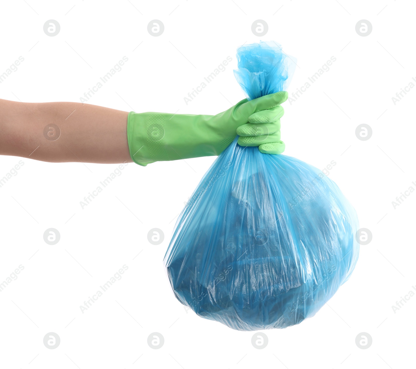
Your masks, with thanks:
<instances>
[{"instance_id":1,"label":"full translucent blue plastic garbage bag held by its twisted neck","mask_svg":"<svg viewBox=\"0 0 416 369\"><path fill-rule=\"evenodd\" d=\"M237 56L249 98L286 88L295 62L279 46L247 45ZM175 296L199 316L242 331L285 328L347 281L357 229L354 208L322 171L235 138L179 216L165 265Z\"/></svg>"}]
</instances>

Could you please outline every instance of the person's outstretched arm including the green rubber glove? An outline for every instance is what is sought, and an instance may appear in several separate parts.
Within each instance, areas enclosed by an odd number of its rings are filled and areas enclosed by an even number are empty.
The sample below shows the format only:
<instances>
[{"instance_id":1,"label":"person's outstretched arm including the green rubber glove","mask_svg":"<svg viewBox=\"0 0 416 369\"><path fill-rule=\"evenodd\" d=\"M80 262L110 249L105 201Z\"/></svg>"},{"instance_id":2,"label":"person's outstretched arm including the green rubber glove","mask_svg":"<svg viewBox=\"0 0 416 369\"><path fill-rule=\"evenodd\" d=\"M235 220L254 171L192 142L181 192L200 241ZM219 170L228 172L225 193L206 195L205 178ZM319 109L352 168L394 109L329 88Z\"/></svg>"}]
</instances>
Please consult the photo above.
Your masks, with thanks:
<instances>
[{"instance_id":1,"label":"person's outstretched arm including the green rubber glove","mask_svg":"<svg viewBox=\"0 0 416 369\"><path fill-rule=\"evenodd\" d=\"M126 163L219 155L240 146L280 154L280 91L241 100L216 115L129 113L83 103L0 100L0 155L50 162ZM127 122L129 120L129 122ZM130 149L130 151L129 151ZM131 156L130 156L131 153Z\"/></svg>"}]
</instances>

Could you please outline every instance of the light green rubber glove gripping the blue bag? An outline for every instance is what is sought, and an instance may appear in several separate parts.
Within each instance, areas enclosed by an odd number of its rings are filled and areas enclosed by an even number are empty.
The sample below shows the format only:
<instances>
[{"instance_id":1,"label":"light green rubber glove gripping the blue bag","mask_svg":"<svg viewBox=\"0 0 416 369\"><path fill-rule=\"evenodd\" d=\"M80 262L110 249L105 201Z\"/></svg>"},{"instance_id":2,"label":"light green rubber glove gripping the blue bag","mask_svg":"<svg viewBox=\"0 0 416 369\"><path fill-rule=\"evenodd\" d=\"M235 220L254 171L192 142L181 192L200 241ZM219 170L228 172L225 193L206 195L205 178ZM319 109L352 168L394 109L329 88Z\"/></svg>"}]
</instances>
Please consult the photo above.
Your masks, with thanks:
<instances>
[{"instance_id":1,"label":"light green rubber glove gripping the blue bag","mask_svg":"<svg viewBox=\"0 0 416 369\"><path fill-rule=\"evenodd\" d=\"M281 91L260 98L241 100L217 115L129 113L127 138L132 160L146 166L168 161L222 153L239 135L240 146L258 146L262 153L280 154Z\"/></svg>"}]
</instances>

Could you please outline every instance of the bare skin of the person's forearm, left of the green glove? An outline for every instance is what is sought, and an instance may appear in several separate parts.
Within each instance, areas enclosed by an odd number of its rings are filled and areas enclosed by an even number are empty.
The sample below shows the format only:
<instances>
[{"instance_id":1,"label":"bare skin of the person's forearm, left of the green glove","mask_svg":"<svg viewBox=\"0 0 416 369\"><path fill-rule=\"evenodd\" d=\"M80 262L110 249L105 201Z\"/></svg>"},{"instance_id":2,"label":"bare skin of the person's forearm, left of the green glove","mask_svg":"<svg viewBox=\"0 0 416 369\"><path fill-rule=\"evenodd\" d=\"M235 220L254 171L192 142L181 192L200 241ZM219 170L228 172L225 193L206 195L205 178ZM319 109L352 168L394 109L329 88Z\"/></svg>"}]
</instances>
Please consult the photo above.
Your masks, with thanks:
<instances>
[{"instance_id":1,"label":"bare skin of the person's forearm, left of the green glove","mask_svg":"<svg viewBox=\"0 0 416 369\"><path fill-rule=\"evenodd\" d=\"M82 103L0 99L0 155L50 162L131 162L127 115Z\"/></svg>"}]
</instances>

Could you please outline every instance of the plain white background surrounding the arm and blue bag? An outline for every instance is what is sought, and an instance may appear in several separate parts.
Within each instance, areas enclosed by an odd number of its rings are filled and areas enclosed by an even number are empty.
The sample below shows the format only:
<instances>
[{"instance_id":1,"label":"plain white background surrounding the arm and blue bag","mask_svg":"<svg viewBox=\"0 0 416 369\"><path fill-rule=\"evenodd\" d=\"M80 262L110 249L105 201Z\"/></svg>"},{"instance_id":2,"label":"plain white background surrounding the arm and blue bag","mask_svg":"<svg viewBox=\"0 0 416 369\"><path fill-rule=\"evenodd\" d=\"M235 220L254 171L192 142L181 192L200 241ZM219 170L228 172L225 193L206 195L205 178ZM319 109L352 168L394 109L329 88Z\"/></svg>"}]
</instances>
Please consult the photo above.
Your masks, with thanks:
<instances>
[{"instance_id":1,"label":"plain white background surrounding the arm and blue bag","mask_svg":"<svg viewBox=\"0 0 416 369\"><path fill-rule=\"evenodd\" d=\"M24 165L0 188L0 281L24 270L0 293L2 368L408 368L414 366L416 296L392 305L416 285L416 193L391 202L416 181L414 98L392 97L416 77L415 4L411 1L1 1L0 73L25 60L0 84L0 98L79 101L123 57L129 58L88 103L120 110L216 114L244 98L233 76L235 50L275 40L297 58L296 91L331 56L329 71L284 105L285 154L329 173L372 232L351 279L311 319L255 332L233 331L186 311L170 290L163 256L176 216L214 157L129 164L84 209L79 202L116 165ZM56 20L58 35L43 25ZM147 25L165 30L151 36ZM357 34L368 20L372 32ZM139 46L138 46L139 45ZM227 57L233 61L191 103L183 98ZM229 102L229 101L231 102ZM1 114L1 112L0 112ZM372 136L360 141L366 123ZM59 125L59 122L57 122ZM42 137L42 135L40 135ZM91 137L94 140L94 137ZM41 138L39 144L42 144ZM0 158L0 177L20 158ZM60 241L48 245L47 228ZM151 228L164 241L149 243ZM128 270L87 311L79 306L124 264ZM43 337L61 339L47 349ZM147 337L164 337L152 349ZM355 338L366 332L369 349Z\"/></svg>"}]
</instances>

